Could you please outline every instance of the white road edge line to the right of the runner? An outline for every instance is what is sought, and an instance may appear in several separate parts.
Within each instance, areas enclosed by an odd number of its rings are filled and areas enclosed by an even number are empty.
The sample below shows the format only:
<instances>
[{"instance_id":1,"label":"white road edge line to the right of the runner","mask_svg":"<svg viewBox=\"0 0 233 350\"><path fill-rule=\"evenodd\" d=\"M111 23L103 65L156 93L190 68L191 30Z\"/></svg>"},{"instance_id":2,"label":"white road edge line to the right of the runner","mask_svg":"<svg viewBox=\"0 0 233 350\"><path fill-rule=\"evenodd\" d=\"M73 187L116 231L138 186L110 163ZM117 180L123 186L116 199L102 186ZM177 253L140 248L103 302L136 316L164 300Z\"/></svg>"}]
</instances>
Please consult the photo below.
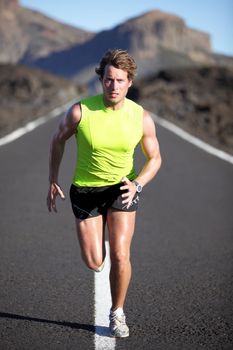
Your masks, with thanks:
<instances>
[{"instance_id":1,"label":"white road edge line to the right of the runner","mask_svg":"<svg viewBox=\"0 0 233 350\"><path fill-rule=\"evenodd\" d=\"M192 143L193 145L195 145L198 148L201 148L202 150L204 150L207 153L210 153L222 160L225 160L231 164L233 164L233 156L231 156L230 154L221 151L211 145L209 145L208 143L198 139L197 137L189 134L187 131L184 131L183 129L179 128L178 126L174 125L173 123L157 116L154 113L151 113L152 118L154 119L154 121L159 124L160 126L162 126L165 129L168 129L169 131L173 132L174 134L176 134L177 136L181 137L182 139L184 139L185 141L188 141L189 143Z\"/></svg>"}]
</instances>

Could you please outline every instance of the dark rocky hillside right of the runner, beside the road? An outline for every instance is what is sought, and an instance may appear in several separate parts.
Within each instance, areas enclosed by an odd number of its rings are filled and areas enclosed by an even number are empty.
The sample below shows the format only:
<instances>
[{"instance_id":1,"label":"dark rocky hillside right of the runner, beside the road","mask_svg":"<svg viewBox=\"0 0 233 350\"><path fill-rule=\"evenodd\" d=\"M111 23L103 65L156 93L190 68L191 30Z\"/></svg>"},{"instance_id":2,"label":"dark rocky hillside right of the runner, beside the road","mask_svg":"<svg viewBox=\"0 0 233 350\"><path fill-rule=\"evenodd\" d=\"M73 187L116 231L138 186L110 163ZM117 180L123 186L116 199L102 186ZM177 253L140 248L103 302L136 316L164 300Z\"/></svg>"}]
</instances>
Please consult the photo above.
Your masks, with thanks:
<instances>
[{"instance_id":1,"label":"dark rocky hillside right of the runner, beside the road","mask_svg":"<svg viewBox=\"0 0 233 350\"><path fill-rule=\"evenodd\" d=\"M160 71L136 82L130 97L233 154L233 70L202 67Z\"/></svg>"}]
</instances>

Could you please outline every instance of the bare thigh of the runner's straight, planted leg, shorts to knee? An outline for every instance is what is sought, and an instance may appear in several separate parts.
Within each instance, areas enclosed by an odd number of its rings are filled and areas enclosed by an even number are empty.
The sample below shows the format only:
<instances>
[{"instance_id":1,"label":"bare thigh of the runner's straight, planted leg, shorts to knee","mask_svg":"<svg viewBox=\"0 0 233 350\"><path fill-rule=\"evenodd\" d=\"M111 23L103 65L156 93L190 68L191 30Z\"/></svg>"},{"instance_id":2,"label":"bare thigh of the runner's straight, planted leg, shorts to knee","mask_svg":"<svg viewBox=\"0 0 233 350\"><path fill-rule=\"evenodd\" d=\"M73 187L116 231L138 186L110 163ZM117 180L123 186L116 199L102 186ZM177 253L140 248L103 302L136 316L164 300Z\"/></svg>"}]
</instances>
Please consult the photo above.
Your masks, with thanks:
<instances>
[{"instance_id":1,"label":"bare thigh of the runner's straight, planted leg, shorts to knee","mask_svg":"<svg viewBox=\"0 0 233 350\"><path fill-rule=\"evenodd\" d=\"M107 224L109 231L109 244L112 256L127 257L130 255L130 245L135 228L136 211L126 212L109 209Z\"/></svg>"}]
</instances>

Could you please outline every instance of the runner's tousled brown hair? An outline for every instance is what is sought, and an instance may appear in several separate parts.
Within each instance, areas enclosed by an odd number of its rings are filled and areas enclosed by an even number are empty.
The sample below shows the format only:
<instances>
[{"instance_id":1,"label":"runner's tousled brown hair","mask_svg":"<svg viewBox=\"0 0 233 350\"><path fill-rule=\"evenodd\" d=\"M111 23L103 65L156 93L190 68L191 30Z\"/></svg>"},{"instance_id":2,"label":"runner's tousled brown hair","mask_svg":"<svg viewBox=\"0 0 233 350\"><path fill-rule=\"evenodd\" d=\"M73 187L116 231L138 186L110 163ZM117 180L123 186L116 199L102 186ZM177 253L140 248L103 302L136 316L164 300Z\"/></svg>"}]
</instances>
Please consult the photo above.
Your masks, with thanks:
<instances>
[{"instance_id":1,"label":"runner's tousled brown hair","mask_svg":"<svg viewBox=\"0 0 233 350\"><path fill-rule=\"evenodd\" d=\"M95 69L101 80L104 77L105 67L107 65L126 71L130 81L132 81L136 75L137 65L127 51L114 49L106 52L100 61L99 67Z\"/></svg>"}]
</instances>

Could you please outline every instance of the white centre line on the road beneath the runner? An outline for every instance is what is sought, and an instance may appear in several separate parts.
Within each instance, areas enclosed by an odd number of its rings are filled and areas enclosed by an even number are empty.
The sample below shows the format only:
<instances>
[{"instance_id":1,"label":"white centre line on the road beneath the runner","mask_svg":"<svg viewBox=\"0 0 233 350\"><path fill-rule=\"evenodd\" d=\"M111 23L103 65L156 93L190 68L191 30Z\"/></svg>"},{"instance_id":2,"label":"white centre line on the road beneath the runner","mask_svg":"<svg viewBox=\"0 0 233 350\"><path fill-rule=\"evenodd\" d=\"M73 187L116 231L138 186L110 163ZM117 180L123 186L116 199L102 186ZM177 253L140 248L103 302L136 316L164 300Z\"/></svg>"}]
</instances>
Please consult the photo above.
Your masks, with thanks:
<instances>
[{"instance_id":1,"label":"white centre line on the road beneath the runner","mask_svg":"<svg viewBox=\"0 0 233 350\"><path fill-rule=\"evenodd\" d=\"M95 350L113 350L116 346L115 338L109 337L109 310L111 308L111 294L109 284L110 257L109 243L105 242L105 266L101 272L95 272Z\"/></svg>"}]
</instances>

